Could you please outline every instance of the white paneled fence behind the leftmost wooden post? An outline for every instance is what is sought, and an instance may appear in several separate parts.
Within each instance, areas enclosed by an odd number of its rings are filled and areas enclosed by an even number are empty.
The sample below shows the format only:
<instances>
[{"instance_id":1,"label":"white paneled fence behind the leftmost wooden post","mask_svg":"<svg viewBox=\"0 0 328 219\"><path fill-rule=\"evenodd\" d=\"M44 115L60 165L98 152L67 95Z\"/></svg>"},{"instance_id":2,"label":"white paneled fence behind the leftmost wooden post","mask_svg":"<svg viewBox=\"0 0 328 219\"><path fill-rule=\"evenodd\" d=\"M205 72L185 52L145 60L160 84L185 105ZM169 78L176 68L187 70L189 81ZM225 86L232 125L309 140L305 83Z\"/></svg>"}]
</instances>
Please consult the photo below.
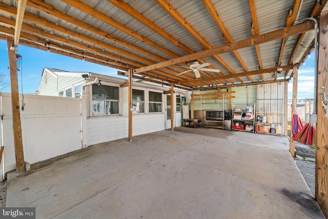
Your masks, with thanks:
<instances>
[{"instance_id":1,"label":"white paneled fence behind the leftmost wooden post","mask_svg":"<svg viewBox=\"0 0 328 219\"><path fill-rule=\"evenodd\" d=\"M26 162L33 164L82 148L81 99L25 94L24 103L20 121ZM3 174L16 168L10 93L1 93L1 105Z\"/></svg>"}]
</instances>

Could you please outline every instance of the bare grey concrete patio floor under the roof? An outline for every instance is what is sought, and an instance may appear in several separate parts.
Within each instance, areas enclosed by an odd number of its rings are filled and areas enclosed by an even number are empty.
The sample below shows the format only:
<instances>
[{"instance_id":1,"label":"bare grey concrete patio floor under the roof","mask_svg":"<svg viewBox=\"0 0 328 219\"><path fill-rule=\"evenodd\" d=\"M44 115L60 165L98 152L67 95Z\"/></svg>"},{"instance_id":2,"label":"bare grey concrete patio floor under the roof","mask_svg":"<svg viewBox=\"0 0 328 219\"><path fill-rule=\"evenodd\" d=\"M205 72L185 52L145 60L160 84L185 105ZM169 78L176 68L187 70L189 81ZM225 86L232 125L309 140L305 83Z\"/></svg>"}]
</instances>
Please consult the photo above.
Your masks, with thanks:
<instances>
[{"instance_id":1,"label":"bare grey concrete patio floor under the roof","mask_svg":"<svg viewBox=\"0 0 328 219\"><path fill-rule=\"evenodd\" d=\"M154 132L8 173L6 207L36 207L36 218L324 218L288 148L241 131Z\"/></svg>"}]
</instances>

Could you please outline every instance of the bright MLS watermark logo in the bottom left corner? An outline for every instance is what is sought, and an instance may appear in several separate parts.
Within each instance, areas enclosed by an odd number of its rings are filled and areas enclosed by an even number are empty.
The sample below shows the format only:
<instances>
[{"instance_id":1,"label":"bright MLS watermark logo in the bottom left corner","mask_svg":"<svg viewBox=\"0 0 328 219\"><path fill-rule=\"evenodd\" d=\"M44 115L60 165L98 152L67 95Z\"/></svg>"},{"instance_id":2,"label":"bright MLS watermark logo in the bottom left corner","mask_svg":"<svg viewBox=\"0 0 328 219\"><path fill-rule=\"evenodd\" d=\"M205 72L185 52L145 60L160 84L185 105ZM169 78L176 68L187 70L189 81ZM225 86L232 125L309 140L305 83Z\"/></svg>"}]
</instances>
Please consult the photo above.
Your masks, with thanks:
<instances>
[{"instance_id":1,"label":"bright MLS watermark logo in the bottom left corner","mask_svg":"<svg viewBox=\"0 0 328 219\"><path fill-rule=\"evenodd\" d=\"M0 218L35 219L35 208L0 208Z\"/></svg>"}]
</instances>

